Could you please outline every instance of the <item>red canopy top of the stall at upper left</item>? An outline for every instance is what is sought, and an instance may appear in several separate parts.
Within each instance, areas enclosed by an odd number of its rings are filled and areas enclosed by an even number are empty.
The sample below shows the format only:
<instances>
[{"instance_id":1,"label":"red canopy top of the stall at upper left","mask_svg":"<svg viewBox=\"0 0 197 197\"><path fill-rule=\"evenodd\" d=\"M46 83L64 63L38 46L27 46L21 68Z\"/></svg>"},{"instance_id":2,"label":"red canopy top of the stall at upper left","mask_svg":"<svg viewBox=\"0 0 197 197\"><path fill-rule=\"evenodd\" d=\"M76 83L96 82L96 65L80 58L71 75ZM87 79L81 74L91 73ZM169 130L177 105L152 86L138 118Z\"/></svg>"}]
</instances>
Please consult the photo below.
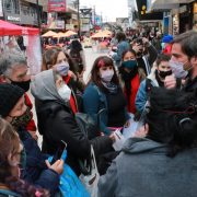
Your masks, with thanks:
<instances>
[{"instance_id":1,"label":"red canopy top of the stall at upper left","mask_svg":"<svg viewBox=\"0 0 197 197\"><path fill-rule=\"evenodd\" d=\"M26 26L20 26L7 21L0 20L0 36L5 35L38 35L39 30Z\"/></svg>"}]
</instances>

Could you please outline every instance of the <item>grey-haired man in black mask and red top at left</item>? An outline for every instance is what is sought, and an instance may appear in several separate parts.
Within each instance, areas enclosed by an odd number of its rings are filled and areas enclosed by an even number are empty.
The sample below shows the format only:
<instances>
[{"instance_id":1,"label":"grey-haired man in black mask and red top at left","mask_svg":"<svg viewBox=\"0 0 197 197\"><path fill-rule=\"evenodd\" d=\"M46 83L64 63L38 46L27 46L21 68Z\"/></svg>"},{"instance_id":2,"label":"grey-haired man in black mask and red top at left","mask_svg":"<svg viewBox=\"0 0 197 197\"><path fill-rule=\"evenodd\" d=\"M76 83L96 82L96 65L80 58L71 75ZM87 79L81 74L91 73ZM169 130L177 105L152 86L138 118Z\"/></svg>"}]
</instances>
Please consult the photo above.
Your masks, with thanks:
<instances>
[{"instance_id":1,"label":"grey-haired man in black mask and red top at left","mask_svg":"<svg viewBox=\"0 0 197 197\"><path fill-rule=\"evenodd\" d=\"M15 54L3 54L0 58L0 83L7 82L20 86L25 92L30 89L31 76L27 74L28 67L26 59L23 56ZM25 104L31 109L33 107L32 102L27 94L25 96ZM36 126L32 118L28 121L26 129L30 131L32 137L37 140Z\"/></svg>"}]
</instances>

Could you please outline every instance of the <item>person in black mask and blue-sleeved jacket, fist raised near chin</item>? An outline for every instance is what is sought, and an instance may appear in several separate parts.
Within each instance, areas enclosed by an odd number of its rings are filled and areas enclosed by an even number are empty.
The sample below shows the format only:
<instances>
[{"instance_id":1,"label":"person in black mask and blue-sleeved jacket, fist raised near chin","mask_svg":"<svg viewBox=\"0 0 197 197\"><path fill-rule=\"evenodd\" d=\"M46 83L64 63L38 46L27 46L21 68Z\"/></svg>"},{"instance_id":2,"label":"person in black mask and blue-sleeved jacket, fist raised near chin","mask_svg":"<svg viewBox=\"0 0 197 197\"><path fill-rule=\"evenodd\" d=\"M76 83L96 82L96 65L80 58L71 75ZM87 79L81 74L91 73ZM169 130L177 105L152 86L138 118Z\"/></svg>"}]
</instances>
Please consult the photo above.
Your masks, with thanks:
<instances>
[{"instance_id":1,"label":"person in black mask and blue-sleeved jacket, fist raised near chin","mask_svg":"<svg viewBox=\"0 0 197 197\"><path fill-rule=\"evenodd\" d=\"M140 114L144 109L152 86L166 89L181 88L181 79L174 77L170 59L171 56L160 54L155 61L155 70L152 70L147 79L141 82L136 96L136 108Z\"/></svg>"}]
</instances>

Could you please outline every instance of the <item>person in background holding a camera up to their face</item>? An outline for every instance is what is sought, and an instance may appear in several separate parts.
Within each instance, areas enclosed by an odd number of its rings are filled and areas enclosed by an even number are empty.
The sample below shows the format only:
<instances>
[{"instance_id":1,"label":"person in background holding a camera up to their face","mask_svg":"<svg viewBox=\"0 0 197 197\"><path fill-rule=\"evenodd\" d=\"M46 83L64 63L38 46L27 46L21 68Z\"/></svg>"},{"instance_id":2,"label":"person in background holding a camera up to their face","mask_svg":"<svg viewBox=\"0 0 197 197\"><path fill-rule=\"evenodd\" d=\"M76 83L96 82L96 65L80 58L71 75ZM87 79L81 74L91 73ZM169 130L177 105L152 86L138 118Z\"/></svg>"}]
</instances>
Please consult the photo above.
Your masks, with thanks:
<instances>
[{"instance_id":1,"label":"person in background holding a camera up to their face","mask_svg":"<svg viewBox=\"0 0 197 197\"><path fill-rule=\"evenodd\" d=\"M137 54L138 67L143 69L146 76L150 74L153 62L158 57L158 51L146 37L137 38L131 43L131 48Z\"/></svg>"}]
</instances>

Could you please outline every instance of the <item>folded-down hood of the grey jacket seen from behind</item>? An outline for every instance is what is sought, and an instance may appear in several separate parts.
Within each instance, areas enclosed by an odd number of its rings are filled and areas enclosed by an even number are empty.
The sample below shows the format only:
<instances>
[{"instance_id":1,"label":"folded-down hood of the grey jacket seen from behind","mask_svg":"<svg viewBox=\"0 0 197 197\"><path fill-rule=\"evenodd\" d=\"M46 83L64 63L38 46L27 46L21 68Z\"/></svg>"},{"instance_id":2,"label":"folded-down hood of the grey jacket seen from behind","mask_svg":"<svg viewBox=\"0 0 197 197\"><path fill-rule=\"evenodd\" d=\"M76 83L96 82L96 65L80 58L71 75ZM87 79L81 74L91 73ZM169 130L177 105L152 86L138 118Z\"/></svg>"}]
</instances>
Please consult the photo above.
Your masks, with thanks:
<instances>
[{"instance_id":1,"label":"folded-down hood of the grey jacket seen from behind","mask_svg":"<svg viewBox=\"0 0 197 197\"><path fill-rule=\"evenodd\" d=\"M129 138L123 147L123 151L129 154L138 154L144 152L166 153L167 146L150 140L148 138Z\"/></svg>"}]
</instances>

